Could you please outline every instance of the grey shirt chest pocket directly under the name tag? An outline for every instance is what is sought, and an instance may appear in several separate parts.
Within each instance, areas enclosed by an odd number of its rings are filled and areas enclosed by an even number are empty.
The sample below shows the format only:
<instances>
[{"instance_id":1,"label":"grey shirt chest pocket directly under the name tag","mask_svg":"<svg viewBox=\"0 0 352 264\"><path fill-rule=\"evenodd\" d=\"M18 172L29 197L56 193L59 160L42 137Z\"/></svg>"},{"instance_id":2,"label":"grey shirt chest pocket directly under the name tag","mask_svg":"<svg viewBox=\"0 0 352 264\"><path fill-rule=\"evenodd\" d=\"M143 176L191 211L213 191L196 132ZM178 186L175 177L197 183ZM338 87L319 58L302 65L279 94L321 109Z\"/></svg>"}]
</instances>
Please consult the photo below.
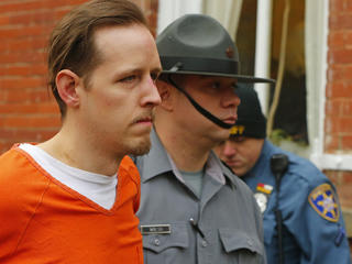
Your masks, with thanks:
<instances>
[{"instance_id":1,"label":"grey shirt chest pocket directly under the name tag","mask_svg":"<svg viewBox=\"0 0 352 264\"><path fill-rule=\"evenodd\" d=\"M187 227L183 223L170 224L168 234L143 234L144 263L180 263L183 251L188 246Z\"/></svg>"}]
</instances>

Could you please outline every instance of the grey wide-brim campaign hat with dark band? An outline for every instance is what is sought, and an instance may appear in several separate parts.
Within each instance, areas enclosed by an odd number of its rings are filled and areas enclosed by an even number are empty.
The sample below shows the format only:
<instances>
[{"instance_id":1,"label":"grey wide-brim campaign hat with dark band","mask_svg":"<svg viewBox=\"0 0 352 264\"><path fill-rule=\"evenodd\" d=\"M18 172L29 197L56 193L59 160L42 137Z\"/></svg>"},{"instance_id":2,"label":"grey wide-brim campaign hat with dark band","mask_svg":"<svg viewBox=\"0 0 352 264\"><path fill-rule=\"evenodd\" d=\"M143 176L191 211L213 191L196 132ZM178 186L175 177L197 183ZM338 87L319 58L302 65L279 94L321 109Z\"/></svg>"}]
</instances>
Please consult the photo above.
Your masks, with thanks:
<instances>
[{"instance_id":1,"label":"grey wide-brim campaign hat with dark band","mask_svg":"<svg viewBox=\"0 0 352 264\"><path fill-rule=\"evenodd\" d=\"M275 82L240 74L238 48L227 30L205 14L186 14L156 38L163 74L237 78L242 82Z\"/></svg>"}]
</instances>

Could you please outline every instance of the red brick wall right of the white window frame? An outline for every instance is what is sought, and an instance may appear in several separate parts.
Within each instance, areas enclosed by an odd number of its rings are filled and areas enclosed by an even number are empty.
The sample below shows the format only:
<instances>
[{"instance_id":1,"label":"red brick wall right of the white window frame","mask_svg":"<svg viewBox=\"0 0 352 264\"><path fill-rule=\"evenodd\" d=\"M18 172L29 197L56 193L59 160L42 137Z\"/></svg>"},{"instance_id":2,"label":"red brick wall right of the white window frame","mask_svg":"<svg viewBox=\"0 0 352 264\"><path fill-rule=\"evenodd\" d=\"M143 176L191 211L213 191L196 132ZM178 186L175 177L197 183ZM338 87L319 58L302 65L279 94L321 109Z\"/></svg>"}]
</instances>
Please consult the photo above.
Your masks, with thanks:
<instances>
[{"instance_id":1,"label":"red brick wall right of the white window frame","mask_svg":"<svg viewBox=\"0 0 352 264\"><path fill-rule=\"evenodd\" d=\"M352 1L330 0L329 8L324 146L327 153L352 154ZM326 174L338 188L351 244L352 172Z\"/></svg>"}]
</instances>

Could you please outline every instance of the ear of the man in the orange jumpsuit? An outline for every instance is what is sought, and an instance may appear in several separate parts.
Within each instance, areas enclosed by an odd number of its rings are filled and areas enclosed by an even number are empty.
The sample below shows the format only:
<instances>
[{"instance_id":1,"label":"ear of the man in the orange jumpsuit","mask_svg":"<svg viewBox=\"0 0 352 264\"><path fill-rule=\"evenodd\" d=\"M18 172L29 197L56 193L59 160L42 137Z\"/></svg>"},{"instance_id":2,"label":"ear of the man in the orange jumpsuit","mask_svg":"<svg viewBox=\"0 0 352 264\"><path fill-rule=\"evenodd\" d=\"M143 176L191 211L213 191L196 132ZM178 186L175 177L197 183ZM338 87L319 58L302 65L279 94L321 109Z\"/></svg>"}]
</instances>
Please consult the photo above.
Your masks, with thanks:
<instances>
[{"instance_id":1,"label":"ear of the man in the orange jumpsuit","mask_svg":"<svg viewBox=\"0 0 352 264\"><path fill-rule=\"evenodd\" d=\"M79 96L77 86L80 85L80 78L69 69L63 69L56 75L56 87L59 97L68 107L79 106Z\"/></svg>"}]
</instances>

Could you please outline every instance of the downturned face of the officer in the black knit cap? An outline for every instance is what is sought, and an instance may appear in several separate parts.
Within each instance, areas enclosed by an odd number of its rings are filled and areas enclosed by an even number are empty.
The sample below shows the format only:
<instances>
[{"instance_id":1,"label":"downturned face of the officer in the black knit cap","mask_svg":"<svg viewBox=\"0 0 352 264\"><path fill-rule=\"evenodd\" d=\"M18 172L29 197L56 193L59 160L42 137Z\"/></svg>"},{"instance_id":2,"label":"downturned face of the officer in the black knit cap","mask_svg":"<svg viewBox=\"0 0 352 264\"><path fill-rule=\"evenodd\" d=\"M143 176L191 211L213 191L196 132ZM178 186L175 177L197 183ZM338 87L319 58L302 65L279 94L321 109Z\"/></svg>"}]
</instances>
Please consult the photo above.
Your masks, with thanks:
<instances>
[{"instance_id":1,"label":"downturned face of the officer in the black knit cap","mask_svg":"<svg viewBox=\"0 0 352 264\"><path fill-rule=\"evenodd\" d=\"M255 165L262 152L263 143L263 139L231 136L217 146L216 152L241 177Z\"/></svg>"}]
</instances>

